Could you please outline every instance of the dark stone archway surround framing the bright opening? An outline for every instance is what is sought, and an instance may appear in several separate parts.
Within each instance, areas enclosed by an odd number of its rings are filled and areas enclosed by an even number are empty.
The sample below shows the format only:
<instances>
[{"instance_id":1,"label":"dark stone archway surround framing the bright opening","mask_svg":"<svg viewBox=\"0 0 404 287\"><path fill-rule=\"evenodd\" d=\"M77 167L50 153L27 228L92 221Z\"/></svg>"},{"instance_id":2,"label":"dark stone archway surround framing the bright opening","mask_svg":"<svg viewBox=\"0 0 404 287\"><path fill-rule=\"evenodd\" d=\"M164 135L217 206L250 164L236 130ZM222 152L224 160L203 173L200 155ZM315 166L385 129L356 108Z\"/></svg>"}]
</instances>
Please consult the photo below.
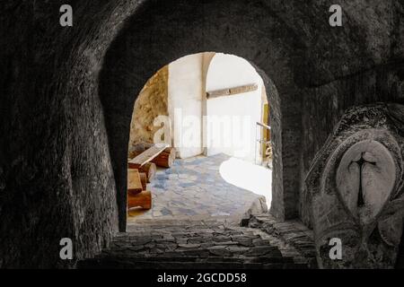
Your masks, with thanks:
<instances>
[{"instance_id":1,"label":"dark stone archway surround framing the bright opening","mask_svg":"<svg viewBox=\"0 0 404 287\"><path fill-rule=\"evenodd\" d=\"M125 23L111 44L100 74L100 96L115 174L119 229L126 228L127 141L136 95L163 65L203 51L220 51L250 61L262 77L272 103L274 166L271 213L298 215L300 99L294 83L294 59L302 47L293 30L269 18L264 6L208 1L147 2ZM246 13L240 13L246 11ZM209 13L207 13L209 11ZM265 15L265 17L264 17ZM175 35L175 37L174 37Z\"/></svg>"}]
</instances>

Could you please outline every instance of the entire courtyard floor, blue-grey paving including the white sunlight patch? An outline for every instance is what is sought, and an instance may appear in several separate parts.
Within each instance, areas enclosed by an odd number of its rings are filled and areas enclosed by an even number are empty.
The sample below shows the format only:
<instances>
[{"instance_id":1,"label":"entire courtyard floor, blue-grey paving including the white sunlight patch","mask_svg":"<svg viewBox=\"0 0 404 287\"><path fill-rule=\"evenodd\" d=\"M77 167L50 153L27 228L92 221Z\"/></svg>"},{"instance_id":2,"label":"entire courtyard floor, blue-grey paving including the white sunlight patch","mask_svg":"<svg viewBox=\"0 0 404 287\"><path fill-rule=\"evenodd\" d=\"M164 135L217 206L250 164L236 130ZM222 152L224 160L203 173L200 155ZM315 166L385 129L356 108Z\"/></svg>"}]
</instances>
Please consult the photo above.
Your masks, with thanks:
<instances>
[{"instance_id":1,"label":"entire courtyard floor, blue-grey paving including the white sunlight patch","mask_svg":"<svg viewBox=\"0 0 404 287\"><path fill-rule=\"evenodd\" d=\"M201 220L223 218L240 222L250 213L267 212L270 170L224 153L176 160L171 169L157 170L148 188L150 210L129 210L138 220Z\"/></svg>"}]
</instances>

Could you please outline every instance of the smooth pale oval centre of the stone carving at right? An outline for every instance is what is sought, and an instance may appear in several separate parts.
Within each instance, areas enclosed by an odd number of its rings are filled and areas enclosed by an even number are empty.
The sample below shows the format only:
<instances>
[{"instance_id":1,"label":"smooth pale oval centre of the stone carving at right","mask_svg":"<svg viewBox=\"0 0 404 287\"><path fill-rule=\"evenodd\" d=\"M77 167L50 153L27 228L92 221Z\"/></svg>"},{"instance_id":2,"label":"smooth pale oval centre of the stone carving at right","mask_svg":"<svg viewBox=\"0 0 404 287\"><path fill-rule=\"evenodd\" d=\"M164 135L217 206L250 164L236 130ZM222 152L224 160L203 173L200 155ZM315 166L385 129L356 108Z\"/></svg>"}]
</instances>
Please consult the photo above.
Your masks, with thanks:
<instances>
[{"instance_id":1,"label":"smooth pale oval centre of the stone carving at right","mask_svg":"<svg viewBox=\"0 0 404 287\"><path fill-rule=\"evenodd\" d=\"M374 221L394 187L396 167L391 153L373 140L355 143L343 155L337 170L337 188L353 216Z\"/></svg>"}]
</instances>

